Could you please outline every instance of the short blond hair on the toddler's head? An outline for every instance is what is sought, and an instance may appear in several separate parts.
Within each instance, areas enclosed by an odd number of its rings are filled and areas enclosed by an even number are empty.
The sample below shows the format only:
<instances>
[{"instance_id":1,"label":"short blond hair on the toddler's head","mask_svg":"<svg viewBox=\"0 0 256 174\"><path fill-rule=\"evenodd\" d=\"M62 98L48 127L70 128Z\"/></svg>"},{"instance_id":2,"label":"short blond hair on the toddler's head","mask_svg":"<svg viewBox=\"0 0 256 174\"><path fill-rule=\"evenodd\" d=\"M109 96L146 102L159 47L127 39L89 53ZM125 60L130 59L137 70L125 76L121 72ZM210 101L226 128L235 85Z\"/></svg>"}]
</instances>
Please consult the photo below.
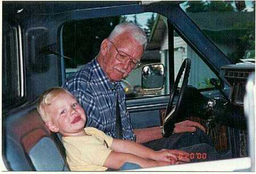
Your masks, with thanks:
<instances>
[{"instance_id":1,"label":"short blond hair on the toddler's head","mask_svg":"<svg viewBox=\"0 0 256 174\"><path fill-rule=\"evenodd\" d=\"M36 103L36 109L38 110L38 113L44 122L51 121L51 117L49 117L48 113L46 112L46 107L51 105L51 101L55 99L57 95L63 92L71 94L64 88L52 87L49 90L44 91L43 94L39 96L38 101Z\"/></svg>"}]
</instances>

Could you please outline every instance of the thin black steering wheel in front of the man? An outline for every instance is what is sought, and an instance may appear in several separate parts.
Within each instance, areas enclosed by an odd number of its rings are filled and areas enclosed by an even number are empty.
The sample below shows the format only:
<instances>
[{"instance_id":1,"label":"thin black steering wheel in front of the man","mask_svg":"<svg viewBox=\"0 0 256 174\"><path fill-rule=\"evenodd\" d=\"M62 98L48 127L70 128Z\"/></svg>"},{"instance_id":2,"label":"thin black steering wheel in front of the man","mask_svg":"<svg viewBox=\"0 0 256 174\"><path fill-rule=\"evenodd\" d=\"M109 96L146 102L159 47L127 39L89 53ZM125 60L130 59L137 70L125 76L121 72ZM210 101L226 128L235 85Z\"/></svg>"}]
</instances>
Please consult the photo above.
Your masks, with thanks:
<instances>
[{"instance_id":1,"label":"thin black steering wheel in front of the man","mask_svg":"<svg viewBox=\"0 0 256 174\"><path fill-rule=\"evenodd\" d=\"M174 127L175 127L174 124L180 120L177 114L180 113L180 108L182 103L181 101L183 100L185 89L188 86L188 77L189 77L190 67L191 67L191 60L189 58L186 58L180 66L179 73L177 74L177 77L174 82L174 86L172 87L172 90L171 90L170 99L168 101L166 113L163 120L163 127L162 127L163 137L169 137L172 134L172 131L174 131ZM181 84L181 88L177 97L177 104L174 108L172 108L172 104L174 103L174 97L178 90L178 84L180 82L180 78L183 75L183 73L184 73L183 82Z\"/></svg>"}]
</instances>

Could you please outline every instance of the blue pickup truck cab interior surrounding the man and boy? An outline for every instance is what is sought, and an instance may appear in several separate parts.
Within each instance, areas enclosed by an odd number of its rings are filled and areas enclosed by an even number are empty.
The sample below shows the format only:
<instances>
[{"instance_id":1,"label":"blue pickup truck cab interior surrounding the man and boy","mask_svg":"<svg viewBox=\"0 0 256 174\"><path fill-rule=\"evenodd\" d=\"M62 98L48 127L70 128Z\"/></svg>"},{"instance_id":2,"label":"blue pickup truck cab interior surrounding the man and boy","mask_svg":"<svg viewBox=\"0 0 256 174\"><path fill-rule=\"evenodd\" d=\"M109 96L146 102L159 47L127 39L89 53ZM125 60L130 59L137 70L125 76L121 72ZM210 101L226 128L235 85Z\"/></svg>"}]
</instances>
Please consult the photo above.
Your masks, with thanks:
<instances>
[{"instance_id":1,"label":"blue pickup truck cab interior surrounding the man and boy","mask_svg":"<svg viewBox=\"0 0 256 174\"><path fill-rule=\"evenodd\" d=\"M248 124L249 118L254 120L254 108L245 105L243 96L255 73L255 1L3 1L2 5L2 160L7 171L69 171L61 138L44 125L36 100L90 62L101 41L125 21L137 23L148 38L142 67L125 79L133 128L198 121L216 150L230 156L141 171L254 171L254 139L250 139L254 124ZM179 77L187 58L190 71ZM177 76L180 83L175 83ZM150 83L145 81L148 77ZM254 79L249 84L255 87ZM183 94L179 104L177 91ZM168 117L177 106L175 119Z\"/></svg>"}]
</instances>

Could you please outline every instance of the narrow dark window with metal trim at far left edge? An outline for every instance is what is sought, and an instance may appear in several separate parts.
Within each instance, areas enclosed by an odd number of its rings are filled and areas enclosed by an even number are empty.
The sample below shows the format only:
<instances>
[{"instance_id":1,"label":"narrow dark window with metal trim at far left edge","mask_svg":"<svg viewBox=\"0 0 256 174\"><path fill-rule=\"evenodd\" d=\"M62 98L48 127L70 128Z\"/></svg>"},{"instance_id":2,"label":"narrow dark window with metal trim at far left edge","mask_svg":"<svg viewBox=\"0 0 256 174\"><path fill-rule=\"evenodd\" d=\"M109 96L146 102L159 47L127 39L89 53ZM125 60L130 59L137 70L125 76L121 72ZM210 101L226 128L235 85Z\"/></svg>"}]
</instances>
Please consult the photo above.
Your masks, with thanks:
<instances>
[{"instance_id":1,"label":"narrow dark window with metal trim at far left edge","mask_svg":"<svg viewBox=\"0 0 256 174\"><path fill-rule=\"evenodd\" d=\"M2 41L2 105L7 109L20 97L18 27L8 26Z\"/></svg>"}]
</instances>

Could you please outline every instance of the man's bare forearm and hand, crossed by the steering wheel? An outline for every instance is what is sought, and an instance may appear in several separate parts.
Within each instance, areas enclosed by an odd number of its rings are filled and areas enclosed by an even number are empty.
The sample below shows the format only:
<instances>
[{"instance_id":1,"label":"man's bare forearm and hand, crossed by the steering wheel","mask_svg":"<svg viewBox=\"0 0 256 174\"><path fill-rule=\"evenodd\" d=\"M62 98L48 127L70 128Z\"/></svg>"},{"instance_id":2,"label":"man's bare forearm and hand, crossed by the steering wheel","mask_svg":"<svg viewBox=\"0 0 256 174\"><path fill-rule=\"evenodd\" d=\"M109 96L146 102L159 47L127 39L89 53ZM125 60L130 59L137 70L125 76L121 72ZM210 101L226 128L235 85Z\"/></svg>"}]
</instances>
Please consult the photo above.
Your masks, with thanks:
<instances>
[{"instance_id":1,"label":"man's bare forearm and hand, crossed by the steering wheel","mask_svg":"<svg viewBox=\"0 0 256 174\"><path fill-rule=\"evenodd\" d=\"M196 127L200 128L205 132L205 129L198 122L185 120L182 122L178 122L175 124L174 133L183 133L186 131L196 131ZM163 138L163 135L160 130L160 126L152 127L152 128L143 128L143 129L134 129L134 133L136 134L136 142L137 143L146 143L149 141L153 141L155 139Z\"/></svg>"}]
</instances>

